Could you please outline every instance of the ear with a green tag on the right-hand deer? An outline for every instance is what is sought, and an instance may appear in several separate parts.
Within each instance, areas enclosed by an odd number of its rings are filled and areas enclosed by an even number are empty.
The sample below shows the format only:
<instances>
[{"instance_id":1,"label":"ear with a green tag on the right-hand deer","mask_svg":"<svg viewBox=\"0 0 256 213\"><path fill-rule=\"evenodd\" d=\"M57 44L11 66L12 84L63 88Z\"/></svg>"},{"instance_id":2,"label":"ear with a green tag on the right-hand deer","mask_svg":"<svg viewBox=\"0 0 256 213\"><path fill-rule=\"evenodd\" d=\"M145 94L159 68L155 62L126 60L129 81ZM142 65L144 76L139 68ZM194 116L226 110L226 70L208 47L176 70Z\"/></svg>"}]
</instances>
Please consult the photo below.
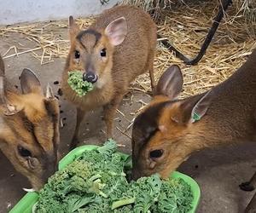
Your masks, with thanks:
<instances>
[{"instance_id":1,"label":"ear with a green tag on the right-hand deer","mask_svg":"<svg viewBox=\"0 0 256 213\"><path fill-rule=\"evenodd\" d=\"M200 121L212 103L213 92L208 91L206 94L196 95L181 101L178 107L177 115L172 116L172 120L177 123L189 124Z\"/></svg>"}]
</instances>

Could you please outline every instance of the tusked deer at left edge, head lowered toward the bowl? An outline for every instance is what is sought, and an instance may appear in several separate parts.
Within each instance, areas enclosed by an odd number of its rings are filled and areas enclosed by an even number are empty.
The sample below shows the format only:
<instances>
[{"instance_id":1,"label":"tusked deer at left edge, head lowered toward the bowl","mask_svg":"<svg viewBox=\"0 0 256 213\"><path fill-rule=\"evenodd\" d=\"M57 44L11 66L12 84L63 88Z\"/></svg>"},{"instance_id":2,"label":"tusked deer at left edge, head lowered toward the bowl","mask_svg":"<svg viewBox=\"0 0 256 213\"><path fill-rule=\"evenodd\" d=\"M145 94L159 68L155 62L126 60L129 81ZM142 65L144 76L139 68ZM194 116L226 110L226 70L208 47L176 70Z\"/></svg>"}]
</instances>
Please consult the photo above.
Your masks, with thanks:
<instances>
[{"instance_id":1,"label":"tusked deer at left edge, head lowered toward the bowl","mask_svg":"<svg viewBox=\"0 0 256 213\"><path fill-rule=\"evenodd\" d=\"M22 94L4 77L0 56L0 149L38 190L57 169L59 104L49 86L44 96L28 69L21 73L20 86Z\"/></svg>"}]
</instances>

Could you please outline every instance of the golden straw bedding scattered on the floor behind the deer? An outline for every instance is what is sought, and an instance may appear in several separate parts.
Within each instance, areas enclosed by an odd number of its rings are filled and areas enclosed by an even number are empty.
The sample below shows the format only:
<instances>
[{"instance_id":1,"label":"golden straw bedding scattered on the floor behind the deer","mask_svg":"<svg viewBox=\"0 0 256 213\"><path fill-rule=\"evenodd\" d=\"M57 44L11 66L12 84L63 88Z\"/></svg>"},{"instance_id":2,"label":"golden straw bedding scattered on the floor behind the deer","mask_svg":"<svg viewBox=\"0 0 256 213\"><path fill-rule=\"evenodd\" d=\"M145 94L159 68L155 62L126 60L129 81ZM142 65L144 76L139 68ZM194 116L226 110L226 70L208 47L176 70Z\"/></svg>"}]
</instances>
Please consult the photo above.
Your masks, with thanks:
<instances>
[{"instance_id":1,"label":"golden straw bedding scattered on the floor behind the deer","mask_svg":"<svg viewBox=\"0 0 256 213\"><path fill-rule=\"evenodd\" d=\"M247 5L243 7L246 8ZM173 9L165 9L161 11L161 17L157 20L158 32L168 38L183 54L194 57L201 48L201 43L212 25L212 18L217 12L218 3L214 1L180 4ZM80 27L85 28L90 26L94 18L79 18L77 21ZM8 37L13 32L20 33L26 39L36 42L36 46L32 49L20 45L13 46L4 53L4 58L29 54L44 65L54 61L55 57L65 58L67 56L69 45L67 35L60 36L60 32L64 35L68 33L67 20L2 27L0 36ZM247 55L250 55L252 49L256 48L254 32L256 32L255 21L250 19L248 22L247 15L239 15L237 7L233 5L228 9L228 15L225 15L206 55L198 65L184 65L159 43L154 60L155 78L160 78L166 67L177 64L183 71L183 97L211 89L214 85L229 78L232 72L247 60ZM131 84L131 89L150 92L148 74L137 78Z\"/></svg>"}]
</instances>

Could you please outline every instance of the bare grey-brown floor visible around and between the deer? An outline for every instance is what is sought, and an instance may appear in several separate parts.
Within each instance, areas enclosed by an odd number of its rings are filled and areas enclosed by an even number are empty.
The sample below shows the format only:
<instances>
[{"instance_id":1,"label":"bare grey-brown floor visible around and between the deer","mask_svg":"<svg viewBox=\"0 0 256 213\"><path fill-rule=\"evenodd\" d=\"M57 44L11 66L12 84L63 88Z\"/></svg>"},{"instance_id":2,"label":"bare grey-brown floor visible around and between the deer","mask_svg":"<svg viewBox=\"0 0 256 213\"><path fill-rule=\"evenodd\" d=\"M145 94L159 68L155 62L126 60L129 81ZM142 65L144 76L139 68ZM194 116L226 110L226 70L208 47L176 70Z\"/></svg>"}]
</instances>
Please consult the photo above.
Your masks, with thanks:
<instances>
[{"instance_id":1,"label":"bare grey-brown floor visible around and between the deer","mask_svg":"<svg viewBox=\"0 0 256 213\"><path fill-rule=\"evenodd\" d=\"M60 34L67 37L67 29L63 28ZM20 34L12 33L9 37L1 37L0 53L5 53L11 46L19 46L20 43L26 46L34 46L32 41L28 41ZM43 66L40 60L31 54L23 54L18 57L10 57L4 60L7 78L19 85L20 72L24 67L31 68L38 74L38 78L44 85L49 83L55 90L59 89L55 81L60 81L61 72L64 67L64 59L53 59L54 61ZM115 118L115 139L119 144L124 145L120 149L125 153L131 153L131 129L127 132L126 127L131 124L132 112L143 106L143 102L148 103L150 96L142 92L133 91L125 96L125 100L119 107ZM61 129L61 153L67 153L67 147L73 135L75 125L74 107L60 97L61 118L65 118L64 127ZM90 112L84 118L80 139L84 144L101 144L104 140L105 124L102 121L102 109ZM253 143L237 146L219 147L212 150L204 150L192 155L184 162L178 170L192 176L201 187L201 202L198 212L224 213L242 212L246 204L253 196L252 193L243 192L238 185L242 181L247 181L256 170L256 149ZM8 212L17 201L25 194L22 187L29 187L26 178L20 176L0 154L0 212ZM255 193L255 192L254 192Z\"/></svg>"}]
</instances>

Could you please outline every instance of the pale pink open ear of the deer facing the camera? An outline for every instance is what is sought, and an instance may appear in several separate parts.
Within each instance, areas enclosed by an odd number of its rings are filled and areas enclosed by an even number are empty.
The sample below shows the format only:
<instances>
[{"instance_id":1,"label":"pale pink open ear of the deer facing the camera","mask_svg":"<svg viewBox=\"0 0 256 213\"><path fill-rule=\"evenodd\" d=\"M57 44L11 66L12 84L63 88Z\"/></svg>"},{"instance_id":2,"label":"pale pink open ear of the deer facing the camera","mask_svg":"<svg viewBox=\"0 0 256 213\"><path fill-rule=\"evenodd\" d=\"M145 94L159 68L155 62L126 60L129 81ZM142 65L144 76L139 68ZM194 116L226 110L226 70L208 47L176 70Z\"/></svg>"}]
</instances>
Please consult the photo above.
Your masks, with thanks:
<instances>
[{"instance_id":1,"label":"pale pink open ear of the deer facing the camera","mask_svg":"<svg viewBox=\"0 0 256 213\"><path fill-rule=\"evenodd\" d=\"M105 29L105 34L108 36L110 43L113 46L119 45L125 40L127 34L127 22L125 17L113 20Z\"/></svg>"}]
</instances>

